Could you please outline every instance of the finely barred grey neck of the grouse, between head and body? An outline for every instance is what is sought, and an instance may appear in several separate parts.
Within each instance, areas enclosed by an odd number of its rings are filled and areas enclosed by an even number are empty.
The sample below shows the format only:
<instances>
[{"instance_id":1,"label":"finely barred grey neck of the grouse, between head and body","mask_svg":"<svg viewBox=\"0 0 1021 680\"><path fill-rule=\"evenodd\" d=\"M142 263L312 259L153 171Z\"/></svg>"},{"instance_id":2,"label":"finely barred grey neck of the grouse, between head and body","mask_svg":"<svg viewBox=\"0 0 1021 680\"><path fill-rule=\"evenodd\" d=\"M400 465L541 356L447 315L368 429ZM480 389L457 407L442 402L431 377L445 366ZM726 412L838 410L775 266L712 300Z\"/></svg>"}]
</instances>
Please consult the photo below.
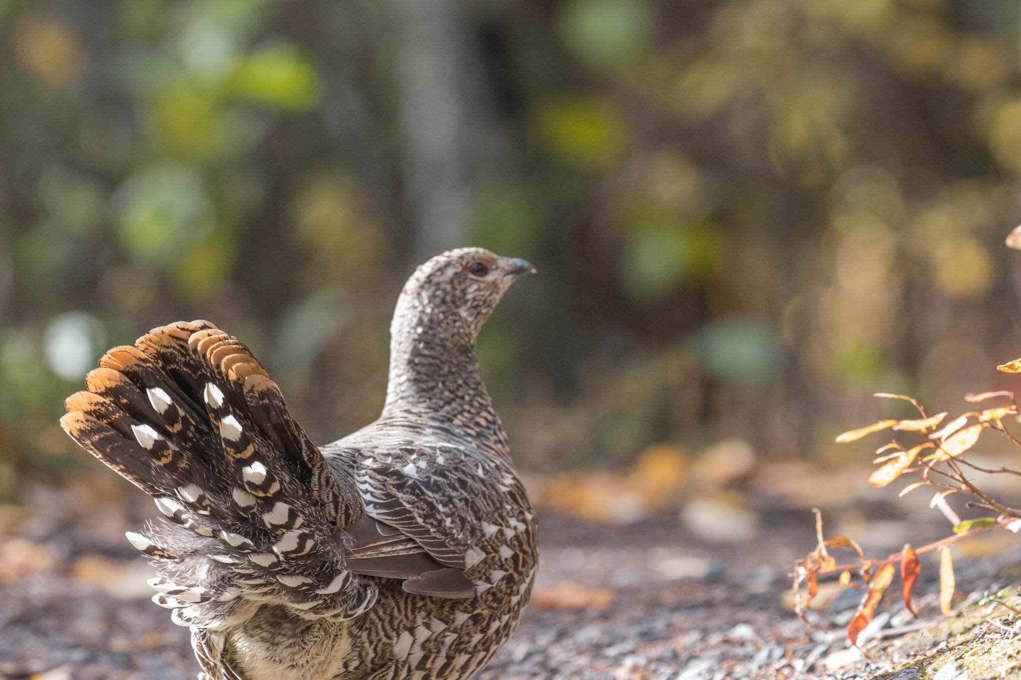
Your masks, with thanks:
<instances>
[{"instance_id":1,"label":"finely barred grey neck of the grouse, between head and body","mask_svg":"<svg viewBox=\"0 0 1021 680\"><path fill-rule=\"evenodd\" d=\"M443 429L467 427L473 438L504 443L506 435L482 379L473 333L457 317L425 311L398 303L390 329L383 418L410 417Z\"/></svg>"}]
</instances>

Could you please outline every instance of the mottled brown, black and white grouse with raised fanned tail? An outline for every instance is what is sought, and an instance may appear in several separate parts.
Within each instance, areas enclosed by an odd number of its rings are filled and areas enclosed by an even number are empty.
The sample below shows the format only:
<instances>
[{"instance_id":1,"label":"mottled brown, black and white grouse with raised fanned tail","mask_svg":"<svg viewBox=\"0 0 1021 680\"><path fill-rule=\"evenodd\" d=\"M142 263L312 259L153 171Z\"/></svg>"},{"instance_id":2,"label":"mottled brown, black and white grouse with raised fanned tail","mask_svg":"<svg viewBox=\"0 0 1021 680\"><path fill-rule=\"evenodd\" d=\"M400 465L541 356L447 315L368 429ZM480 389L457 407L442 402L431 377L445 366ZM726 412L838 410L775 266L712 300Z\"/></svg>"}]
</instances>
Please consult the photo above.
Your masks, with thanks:
<instances>
[{"instance_id":1,"label":"mottled brown, black and white grouse with raised fanned tail","mask_svg":"<svg viewBox=\"0 0 1021 680\"><path fill-rule=\"evenodd\" d=\"M475 339L524 260L439 255L400 294L379 420L317 448L206 321L117 347L60 423L164 516L129 540L200 680L469 678L514 631L531 504Z\"/></svg>"}]
</instances>

